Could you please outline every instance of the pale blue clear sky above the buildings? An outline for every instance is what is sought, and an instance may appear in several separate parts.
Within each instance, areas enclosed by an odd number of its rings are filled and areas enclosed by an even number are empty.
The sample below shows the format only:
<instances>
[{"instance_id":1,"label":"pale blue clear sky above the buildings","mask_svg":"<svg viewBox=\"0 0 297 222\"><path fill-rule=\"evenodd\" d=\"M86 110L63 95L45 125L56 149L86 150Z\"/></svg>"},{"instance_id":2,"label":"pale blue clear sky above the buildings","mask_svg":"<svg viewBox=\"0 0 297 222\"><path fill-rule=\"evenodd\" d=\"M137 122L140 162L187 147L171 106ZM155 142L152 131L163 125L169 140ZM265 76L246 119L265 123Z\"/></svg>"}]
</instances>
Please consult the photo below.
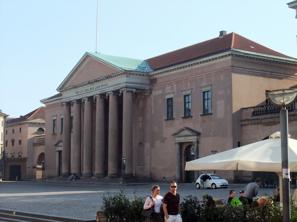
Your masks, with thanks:
<instances>
[{"instance_id":1,"label":"pale blue clear sky above the buildings","mask_svg":"<svg viewBox=\"0 0 297 222\"><path fill-rule=\"evenodd\" d=\"M148 59L236 32L297 57L291 0L99 0L103 54ZM0 0L0 109L25 115L96 48L97 0ZM295 84L295 83L294 83Z\"/></svg>"}]
</instances>

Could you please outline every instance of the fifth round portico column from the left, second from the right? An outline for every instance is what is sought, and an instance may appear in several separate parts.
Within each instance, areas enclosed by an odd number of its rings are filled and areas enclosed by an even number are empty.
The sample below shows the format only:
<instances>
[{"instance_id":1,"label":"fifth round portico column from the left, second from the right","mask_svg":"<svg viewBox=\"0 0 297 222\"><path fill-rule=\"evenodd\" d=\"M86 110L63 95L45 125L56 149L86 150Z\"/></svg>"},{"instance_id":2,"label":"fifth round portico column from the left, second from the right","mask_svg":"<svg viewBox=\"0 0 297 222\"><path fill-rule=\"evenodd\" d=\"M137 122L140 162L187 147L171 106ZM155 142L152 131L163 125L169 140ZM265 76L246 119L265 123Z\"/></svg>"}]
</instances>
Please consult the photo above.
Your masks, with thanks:
<instances>
[{"instance_id":1,"label":"fifth round portico column from the left, second from the right","mask_svg":"<svg viewBox=\"0 0 297 222\"><path fill-rule=\"evenodd\" d=\"M118 95L108 92L109 116L108 116L108 178L118 178L118 151L119 151L119 119L118 119ZM120 158L121 159L121 158Z\"/></svg>"}]
</instances>

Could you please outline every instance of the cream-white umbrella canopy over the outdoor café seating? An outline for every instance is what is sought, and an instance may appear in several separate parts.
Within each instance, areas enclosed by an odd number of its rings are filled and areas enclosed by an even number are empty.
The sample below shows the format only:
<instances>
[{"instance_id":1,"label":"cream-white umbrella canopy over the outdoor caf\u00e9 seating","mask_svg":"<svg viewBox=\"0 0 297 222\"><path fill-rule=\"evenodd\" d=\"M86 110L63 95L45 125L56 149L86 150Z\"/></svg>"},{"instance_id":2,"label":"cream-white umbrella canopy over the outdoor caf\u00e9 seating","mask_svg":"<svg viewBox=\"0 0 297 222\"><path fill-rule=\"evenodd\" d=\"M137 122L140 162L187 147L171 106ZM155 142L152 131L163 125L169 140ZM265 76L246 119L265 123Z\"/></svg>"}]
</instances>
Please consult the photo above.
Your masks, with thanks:
<instances>
[{"instance_id":1,"label":"cream-white umbrella canopy over the outdoor caf\u00e9 seating","mask_svg":"<svg viewBox=\"0 0 297 222\"><path fill-rule=\"evenodd\" d=\"M289 135L290 137L290 135ZM290 171L297 171L297 140L288 139ZM280 132L269 139L186 162L185 170L248 170L281 172Z\"/></svg>"}]
</instances>

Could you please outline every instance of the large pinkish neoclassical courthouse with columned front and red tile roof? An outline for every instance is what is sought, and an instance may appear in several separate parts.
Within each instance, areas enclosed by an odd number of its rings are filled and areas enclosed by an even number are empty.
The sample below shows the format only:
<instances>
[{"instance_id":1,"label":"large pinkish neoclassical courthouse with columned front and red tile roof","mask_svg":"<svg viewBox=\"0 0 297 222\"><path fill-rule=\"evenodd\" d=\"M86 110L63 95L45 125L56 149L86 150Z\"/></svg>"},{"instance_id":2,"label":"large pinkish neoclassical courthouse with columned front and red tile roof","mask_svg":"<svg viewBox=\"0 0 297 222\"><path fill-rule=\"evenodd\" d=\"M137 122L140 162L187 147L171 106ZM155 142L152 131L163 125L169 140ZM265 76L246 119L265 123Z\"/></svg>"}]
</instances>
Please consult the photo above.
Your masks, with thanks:
<instances>
[{"instance_id":1,"label":"large pinkish neoclassical courthouse with columned front and red tile roof","mask_svg":"<svg viewBox=\"0 0 297 222\"><path fill-rule=\"evenodd\" d=\"M295 58L226 31L145 60L86 52L59 94L41 100L45 177L118 178L124 157L126 178L192 182L186 161L279 131L279 114L265 122L252 107L296 85L296 73ZM230 181L247 173L216 172Z\"/></svg>"}]
</instances>

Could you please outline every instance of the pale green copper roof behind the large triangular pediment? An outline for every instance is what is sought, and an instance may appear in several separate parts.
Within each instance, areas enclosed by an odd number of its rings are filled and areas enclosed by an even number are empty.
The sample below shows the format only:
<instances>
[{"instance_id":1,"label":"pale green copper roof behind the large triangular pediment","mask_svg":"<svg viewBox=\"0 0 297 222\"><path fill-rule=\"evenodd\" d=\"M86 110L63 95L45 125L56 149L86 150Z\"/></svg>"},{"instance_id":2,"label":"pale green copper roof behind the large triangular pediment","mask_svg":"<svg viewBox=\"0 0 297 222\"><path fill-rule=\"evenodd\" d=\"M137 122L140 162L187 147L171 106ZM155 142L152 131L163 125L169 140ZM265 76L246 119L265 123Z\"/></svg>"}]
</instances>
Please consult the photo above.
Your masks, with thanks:
<instances>
[{"instance_id":1,"label":"pale green copper roof behind the large triangular pediment","mask_svg":"<svg viewBox=\"0 0 297 222\"><path fill-rule=\"evenodd\" d=\"M102 59L110 64L113 64L119 68L122 68L124 70L146 72L146 73L152 71L148 67L145 60L111 56L111 55L105 55L105 54L96 53L96 52L87 52L87 53L93 55L94 57Z\"/></svg>"}]
</instances>

